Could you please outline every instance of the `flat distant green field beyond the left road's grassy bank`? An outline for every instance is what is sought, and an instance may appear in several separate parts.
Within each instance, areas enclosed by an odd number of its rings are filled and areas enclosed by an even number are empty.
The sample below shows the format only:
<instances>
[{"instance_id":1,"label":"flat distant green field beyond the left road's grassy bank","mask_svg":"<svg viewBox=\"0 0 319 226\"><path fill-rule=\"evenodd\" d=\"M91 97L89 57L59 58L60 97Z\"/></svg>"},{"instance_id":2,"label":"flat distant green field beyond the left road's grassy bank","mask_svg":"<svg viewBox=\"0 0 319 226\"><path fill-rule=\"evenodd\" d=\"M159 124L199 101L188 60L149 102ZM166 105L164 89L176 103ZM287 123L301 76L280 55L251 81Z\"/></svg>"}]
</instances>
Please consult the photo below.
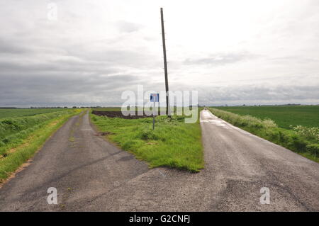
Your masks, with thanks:
<instances>
[{"instance_id":1,"label":"flat distant green field beyond the left road's grassy bank","mask_svg":"<svg viewBox=\"0 0 319 226\"><path fill-rule=\"evenodd\" d=\"M65 111L67 108L17 108L7 109L0 108L0 118L16 117L16 116L29 116L38 115L43 113L51 113L56 111Z\"/></svg>"}]
</instances>

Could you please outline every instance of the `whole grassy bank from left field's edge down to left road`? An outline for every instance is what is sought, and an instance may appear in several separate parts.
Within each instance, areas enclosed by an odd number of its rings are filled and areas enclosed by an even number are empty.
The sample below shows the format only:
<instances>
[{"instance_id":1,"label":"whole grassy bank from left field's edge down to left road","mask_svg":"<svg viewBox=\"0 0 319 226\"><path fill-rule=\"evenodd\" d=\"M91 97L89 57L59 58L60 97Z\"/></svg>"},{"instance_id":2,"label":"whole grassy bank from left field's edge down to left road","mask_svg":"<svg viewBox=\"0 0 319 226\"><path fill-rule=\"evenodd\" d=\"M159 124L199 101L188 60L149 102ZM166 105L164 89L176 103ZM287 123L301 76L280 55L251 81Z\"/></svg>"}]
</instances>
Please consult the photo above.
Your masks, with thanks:
<instances>
[{"instance_id":1,"label":"whole grassy bank from left field's edge down to left road","mask_svg":"<svg viewBox=\"0 0 319 226\"><path fill-rule=\"evenodd\" d=\"M0 145L0 183L30 157L33 157L33 154L43 146L53 132L60 128L70 117L77 115L81 111L83 110L60 111L59 113L48 113L50 115L30 116L38 117L33 119L24 117L1 120L0 128L4 130L2 135L4 136L7 132L9 136L3 138ZM6 126L9 122L11 122L11 127ZM20 128L23 128L23 122L29 126L30 122L32 122L34 125L28 129L18 130L19 123L21 125ZM16 135L12 127L16 128Z\"/></svg>"}]
</instances>

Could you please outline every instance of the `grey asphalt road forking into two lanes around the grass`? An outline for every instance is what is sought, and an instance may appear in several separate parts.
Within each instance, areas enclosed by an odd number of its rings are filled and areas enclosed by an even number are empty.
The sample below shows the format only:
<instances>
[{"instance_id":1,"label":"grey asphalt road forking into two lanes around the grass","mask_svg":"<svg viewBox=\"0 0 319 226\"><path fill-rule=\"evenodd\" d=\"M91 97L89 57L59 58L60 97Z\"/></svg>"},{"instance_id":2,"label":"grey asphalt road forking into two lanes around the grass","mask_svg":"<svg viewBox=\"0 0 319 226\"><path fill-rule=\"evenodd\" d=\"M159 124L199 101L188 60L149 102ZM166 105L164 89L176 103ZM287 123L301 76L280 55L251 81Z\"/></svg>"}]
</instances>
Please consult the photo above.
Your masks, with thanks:
<instances>
[{"instance_id":1,"label":"grey asphalt road forking into two lanes around the grass","mask_svg":"<svg viewBox=\"0 0 319 226\"><path fill-rule=\"evenodd\" d=\"M201 112L206 168L148 169L74 116L0 188L0 210L313 211L319 164ZM47 188L57 188L57 205ZM269 204L260 189L269 188Z\"/></svg>"}]
</instances>

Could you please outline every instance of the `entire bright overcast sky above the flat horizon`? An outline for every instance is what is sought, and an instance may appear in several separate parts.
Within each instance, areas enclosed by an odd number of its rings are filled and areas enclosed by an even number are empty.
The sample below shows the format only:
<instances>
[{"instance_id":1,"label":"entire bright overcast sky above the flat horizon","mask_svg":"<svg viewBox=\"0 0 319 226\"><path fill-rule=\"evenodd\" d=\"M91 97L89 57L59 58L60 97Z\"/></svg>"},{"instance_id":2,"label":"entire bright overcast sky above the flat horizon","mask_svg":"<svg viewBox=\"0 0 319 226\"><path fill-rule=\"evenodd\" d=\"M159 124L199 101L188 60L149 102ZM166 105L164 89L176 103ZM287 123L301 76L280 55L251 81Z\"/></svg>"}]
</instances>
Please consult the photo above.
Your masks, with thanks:
<instances>
[{"instance_id":1,"label":"entire bright overcast sky above the flat horizon","mask_svg":"<svg viewBox=\"0 0 319 226\"><path fill-rule=\"evenodd\" d=\"M0 0L0 106L164 90L160 7L170 89L206 105L319 103L318 0Z\"/></svg>"}]
</instances>

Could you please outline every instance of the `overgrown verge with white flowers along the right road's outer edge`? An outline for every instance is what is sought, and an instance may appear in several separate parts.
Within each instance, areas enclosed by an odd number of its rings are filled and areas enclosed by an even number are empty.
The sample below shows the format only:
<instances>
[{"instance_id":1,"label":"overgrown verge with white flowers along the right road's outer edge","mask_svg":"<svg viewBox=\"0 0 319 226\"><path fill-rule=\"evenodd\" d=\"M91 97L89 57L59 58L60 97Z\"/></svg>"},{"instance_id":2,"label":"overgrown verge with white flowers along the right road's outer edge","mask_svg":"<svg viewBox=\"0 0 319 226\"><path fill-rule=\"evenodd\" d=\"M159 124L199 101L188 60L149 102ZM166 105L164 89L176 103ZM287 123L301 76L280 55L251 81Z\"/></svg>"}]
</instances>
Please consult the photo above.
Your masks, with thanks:
<instances>
[{"instance_id":1,"label":"overgrown verge with white flowers along the right road's outer edge","mask_svg":"<svg viewBox=\"0 0 319 226\"><path fill-rule=\"evenodd\" d=\"M209 108L211 113L254 135L286 147L293 152L319 162L319 130L315 128L296 127L293 130L279 128L273 120L264 120L252 115L237 115L216 108Z\"/></svg>"}]
</instances>

